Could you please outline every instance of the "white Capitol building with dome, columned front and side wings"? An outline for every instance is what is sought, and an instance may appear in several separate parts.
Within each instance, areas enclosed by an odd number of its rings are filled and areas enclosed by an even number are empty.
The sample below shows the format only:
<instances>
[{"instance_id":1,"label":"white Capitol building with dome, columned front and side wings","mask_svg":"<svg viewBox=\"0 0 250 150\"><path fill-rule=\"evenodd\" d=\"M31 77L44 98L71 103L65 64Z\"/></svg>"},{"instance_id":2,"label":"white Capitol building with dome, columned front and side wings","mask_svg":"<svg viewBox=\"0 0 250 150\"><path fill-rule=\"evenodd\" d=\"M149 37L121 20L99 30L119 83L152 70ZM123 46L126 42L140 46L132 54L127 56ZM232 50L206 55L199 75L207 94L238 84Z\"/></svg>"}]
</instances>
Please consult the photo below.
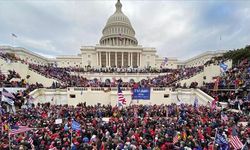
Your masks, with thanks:
<instances>
[{"instance_id":1,"label":"white Capitol building with dome, columned front and side wings","mask_svg":"<svg viewBox=\"0 0 250 150\"><path fill-rule=\"evenodd\" d=\"M0 46L1 51L14 53L17 57L33 64L56 64L58 67L92 68L181 68L199 66L212 57L220 56L224 51L207 51L185 61L177 58L165 58L157 55L155 48L138 45L135 30L129 18L122 12L120 0L116 10L102 30L99 44L81 46L80 54L45 58L21 47Z\"/></svg>"}]
</instances>

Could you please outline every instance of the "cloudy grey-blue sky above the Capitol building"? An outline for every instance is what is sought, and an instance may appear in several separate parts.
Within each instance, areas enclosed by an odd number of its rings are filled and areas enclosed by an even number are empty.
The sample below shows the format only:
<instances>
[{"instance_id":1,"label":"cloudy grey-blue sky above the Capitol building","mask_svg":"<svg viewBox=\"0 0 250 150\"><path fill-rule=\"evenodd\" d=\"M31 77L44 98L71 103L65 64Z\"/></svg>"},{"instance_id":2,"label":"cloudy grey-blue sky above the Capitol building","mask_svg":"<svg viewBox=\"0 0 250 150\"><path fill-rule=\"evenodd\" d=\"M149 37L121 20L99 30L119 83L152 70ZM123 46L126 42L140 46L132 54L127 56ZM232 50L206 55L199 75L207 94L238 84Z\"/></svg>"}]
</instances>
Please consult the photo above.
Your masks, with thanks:
<instances>
[{"instance_id":1,"label":"cloudy grey-blue sky above the Capitol building","mask_svg":"<svg viewBox=\"0 0 250 150\"><path fill-rule=\"evenodd\" d=\"M0 45L44 56L98 44L116 0L0 0ZM160 56L186 59L250 44L250 1L121 0L136 38ZM12 38L11 33L17 35ZM13 40L14 39L14 40Z\"/></svg>"}]
</instances>

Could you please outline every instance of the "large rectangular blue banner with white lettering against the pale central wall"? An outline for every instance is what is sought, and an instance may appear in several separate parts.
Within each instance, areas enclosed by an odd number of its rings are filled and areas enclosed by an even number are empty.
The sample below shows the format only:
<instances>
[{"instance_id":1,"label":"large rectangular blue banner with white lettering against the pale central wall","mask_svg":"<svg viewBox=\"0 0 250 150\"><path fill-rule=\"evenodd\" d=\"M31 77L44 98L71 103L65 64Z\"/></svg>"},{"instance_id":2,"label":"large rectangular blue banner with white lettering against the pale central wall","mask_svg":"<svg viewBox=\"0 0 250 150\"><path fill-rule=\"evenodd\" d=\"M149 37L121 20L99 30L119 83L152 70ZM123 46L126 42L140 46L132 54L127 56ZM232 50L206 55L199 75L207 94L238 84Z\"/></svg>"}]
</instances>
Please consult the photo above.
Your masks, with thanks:
<instances>
[{"instance_id":1,"label":"large rectangular blue banner with white lettering against the pale central wall","mask_svg":"<svg viewBox=\"0 0 250 150\"><path fill-rule=\"evenodd\" d=\"M150 88L133 89L132 99L150 100Z\"/></svg>"}]
</instances>

